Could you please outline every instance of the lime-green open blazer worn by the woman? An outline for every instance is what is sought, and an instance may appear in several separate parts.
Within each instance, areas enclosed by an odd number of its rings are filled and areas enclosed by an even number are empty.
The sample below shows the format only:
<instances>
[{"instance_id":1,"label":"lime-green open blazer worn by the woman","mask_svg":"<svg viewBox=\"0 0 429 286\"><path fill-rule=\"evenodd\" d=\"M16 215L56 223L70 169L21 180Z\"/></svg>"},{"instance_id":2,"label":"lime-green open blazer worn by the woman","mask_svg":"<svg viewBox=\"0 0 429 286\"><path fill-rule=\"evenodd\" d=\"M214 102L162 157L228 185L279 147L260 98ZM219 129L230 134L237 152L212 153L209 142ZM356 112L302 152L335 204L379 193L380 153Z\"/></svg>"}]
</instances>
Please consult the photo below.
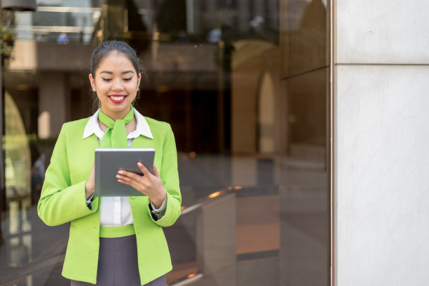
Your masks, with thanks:
<instances>
[{"instance_id":1,"label":"lime-green open blazer worn by the woman","mask_svg":"<svg viewBox=\"0 0 429 286\"><path fill-rule=\"evenodd\" d=\"M182 203L177 151L170 124L145 118L154 139L139 136L132 141L130 148L156 150L155 164L167 190L167 208L160 220L154 220L147 196L129 197L142 285L172 269L162 227L175 223ZM94 197L90 210L86 206L85 184L93 166L94 150L100 144L95 134L82 138L88 120L89 117L62 126L46 170L37 211L41 220L51 226L71 222L62 276L95 284L100 246L101 198Z\"/></svg>"}]
</instances>

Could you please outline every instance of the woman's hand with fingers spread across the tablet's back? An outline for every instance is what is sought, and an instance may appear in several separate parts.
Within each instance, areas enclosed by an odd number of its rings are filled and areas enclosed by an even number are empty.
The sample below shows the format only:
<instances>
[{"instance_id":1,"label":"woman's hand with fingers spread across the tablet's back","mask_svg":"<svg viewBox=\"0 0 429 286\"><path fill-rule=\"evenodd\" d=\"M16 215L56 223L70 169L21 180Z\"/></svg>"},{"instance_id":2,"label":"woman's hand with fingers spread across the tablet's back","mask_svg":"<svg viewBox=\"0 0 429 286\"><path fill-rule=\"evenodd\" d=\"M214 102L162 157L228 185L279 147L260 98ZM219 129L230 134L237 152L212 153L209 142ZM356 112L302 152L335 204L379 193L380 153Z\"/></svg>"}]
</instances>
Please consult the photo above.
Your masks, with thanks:
<instances>
[{"instance_id":1,"label":"woman's hand with fingers spread across the tablet's back","mask_svg":"<svg viewBox=\"0 0 429 286\"><path fill-rule=\"evenodd\" d=\"M165 200L165 196L167 196L167 191L164 188L163 181L161 180L161 176L159 176L158 170L156 170L156 166L154 165L153 174L149 172L144 164L138 162L137 166L142 170L143 176L119 170L116 174L118 182L130 185L131 187L134 187L135 190L149 196L154 207L161 208L161 205Z\"/></svg>"}]
</instances>

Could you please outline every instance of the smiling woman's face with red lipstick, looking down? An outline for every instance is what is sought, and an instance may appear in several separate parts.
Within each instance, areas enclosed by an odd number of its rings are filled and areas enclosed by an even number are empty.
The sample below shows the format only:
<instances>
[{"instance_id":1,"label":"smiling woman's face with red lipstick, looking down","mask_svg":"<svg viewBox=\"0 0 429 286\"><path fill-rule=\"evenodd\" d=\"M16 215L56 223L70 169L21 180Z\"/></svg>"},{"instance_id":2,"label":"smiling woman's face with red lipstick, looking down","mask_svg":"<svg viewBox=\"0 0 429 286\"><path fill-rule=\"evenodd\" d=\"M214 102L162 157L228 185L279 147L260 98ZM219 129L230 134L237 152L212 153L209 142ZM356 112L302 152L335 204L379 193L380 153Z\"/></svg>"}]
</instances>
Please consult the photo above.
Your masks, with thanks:
<instances>
[{"instance_id":1,"label":"smiling woman's face with red lipstick, looking down","mask_svg":"<svg viewBox=\"0 0 429 286\"><path fill-rule=\"evenodd\" d=\"M112 52L102 59L95 76L90 74L89 78L100 99L102 112L114 120L125 117L137 95L141 79L130 59L119 52Z\"/></svg>"}]
</instances>

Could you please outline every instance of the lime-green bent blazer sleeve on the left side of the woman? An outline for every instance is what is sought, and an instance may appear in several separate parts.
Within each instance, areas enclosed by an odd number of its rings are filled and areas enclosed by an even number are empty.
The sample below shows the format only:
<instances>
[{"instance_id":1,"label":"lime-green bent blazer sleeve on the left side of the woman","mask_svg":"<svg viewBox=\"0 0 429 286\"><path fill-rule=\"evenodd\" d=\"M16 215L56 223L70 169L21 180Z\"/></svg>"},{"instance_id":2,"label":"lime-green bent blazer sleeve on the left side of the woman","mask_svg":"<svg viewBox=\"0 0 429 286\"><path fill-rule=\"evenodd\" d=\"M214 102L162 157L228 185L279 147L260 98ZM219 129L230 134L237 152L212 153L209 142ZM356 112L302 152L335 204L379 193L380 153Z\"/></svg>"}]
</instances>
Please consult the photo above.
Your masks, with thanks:
<instances>
[{"instance_id":1,"label":"lime-green bent blazer sleeve on the left side of the woman","mask_svg":"<svg viewBox=\"0 0 429 286\"><path fill-rule=\"evenodd\" d=\"M86 180L71 185L67 156L67 124L62 126L46 170L37 213L48 225L59 225L97 210L98 200L86 206Z\"/></svg>"}]
</instances>

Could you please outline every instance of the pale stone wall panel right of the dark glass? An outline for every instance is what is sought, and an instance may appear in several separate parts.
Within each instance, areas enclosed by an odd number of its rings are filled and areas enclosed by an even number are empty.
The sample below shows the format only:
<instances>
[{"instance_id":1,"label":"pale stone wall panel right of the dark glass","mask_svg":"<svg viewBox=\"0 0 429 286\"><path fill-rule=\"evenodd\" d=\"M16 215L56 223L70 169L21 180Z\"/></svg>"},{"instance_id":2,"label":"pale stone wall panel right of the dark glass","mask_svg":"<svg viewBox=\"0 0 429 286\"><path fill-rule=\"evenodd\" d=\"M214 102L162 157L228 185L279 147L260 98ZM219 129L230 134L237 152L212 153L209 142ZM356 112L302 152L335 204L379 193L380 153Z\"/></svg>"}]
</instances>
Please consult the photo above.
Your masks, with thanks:
<instances>
[{"instance_id":1,"label":"pale stone wall panel right of the dark glass","mask_svg":"<svg viewBox=\"0 0 429 286\"><path fill-rule=\"evenodd\" d=\"M334 285L427 285L429 3L333 3Z\"/></svg>"}]
</instances>

